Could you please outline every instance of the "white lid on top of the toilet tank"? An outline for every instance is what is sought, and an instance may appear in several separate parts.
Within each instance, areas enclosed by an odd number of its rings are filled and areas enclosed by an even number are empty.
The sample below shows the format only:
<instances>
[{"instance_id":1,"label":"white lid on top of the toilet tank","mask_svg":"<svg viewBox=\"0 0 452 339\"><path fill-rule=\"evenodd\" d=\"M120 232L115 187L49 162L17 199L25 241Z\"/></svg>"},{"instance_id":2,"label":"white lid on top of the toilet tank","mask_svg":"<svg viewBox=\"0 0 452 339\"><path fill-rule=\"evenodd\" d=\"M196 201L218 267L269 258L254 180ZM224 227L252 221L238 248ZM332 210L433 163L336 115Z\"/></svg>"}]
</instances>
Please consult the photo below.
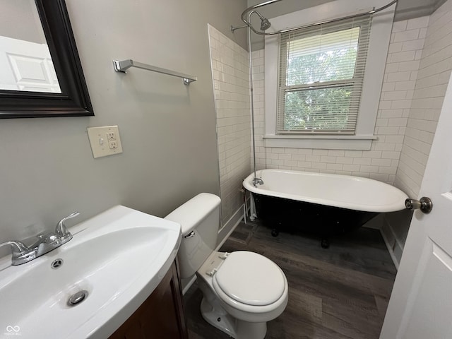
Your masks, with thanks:
<instances>
[{"instance_id":1,"label":"white lid on top of the toilet tank","mask_svg":"<svg viewBox=\"0 0 452 339\"><path fill-rule=\"evenodd\" d=\"M182 234L186 235L215 208L218 208L220 202L220 197L215 194L200 193L173 210L165 219L179 223L182 227Z\"/></svg>"}]
</instances>

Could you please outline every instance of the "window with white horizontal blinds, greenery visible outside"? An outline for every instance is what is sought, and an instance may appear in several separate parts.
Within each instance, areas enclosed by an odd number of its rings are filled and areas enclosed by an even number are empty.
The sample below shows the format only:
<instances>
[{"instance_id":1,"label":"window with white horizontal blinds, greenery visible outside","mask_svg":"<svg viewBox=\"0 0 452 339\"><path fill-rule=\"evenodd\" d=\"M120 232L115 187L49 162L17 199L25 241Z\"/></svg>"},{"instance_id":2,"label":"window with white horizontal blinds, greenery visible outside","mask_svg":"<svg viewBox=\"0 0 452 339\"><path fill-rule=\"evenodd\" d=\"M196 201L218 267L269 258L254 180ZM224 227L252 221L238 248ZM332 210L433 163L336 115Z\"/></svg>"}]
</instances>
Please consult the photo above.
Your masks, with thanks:
<instances>
[{"instance_id":1,"label":"window with white horizontal blinds, greenery visible outside","mask_svg":"<svg viewBox=\"0 0 452 339\"><path fill-rule=\"evenodd\" d=\"M278 134L355 134L371 17L280 35Z\"/></svg>"}]
</instances>

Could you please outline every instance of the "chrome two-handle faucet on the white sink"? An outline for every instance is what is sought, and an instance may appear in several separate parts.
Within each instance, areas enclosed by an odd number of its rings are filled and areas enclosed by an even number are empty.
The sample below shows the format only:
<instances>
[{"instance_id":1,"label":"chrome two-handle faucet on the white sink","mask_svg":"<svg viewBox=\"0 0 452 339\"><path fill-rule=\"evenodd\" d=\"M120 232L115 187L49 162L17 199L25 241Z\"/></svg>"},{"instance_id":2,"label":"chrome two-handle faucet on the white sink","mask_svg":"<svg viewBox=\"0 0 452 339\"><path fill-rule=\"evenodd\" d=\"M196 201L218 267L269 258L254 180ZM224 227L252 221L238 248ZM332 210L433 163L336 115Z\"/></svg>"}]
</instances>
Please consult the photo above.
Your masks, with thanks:
<instances>
[{"instance_id":1,"label":"chrome two-handle faucet on the white sink","mask_svg":"<svg viewBox=\"0 0 452 339\"><path fill-rule=\"evenodd\" d=\"M3 242L0 244L0 247L4 245L11 246L13 254L11 261L13 266L28 263L28 261L32 261L33 259L56 249L62 244L69 242L69 240L72 239L72 234L67 230L64 222L68 219L76 217L79 214L80 213L78 212L74 212L66 218L61 219L58 222L57 227L55 227L54 233L38 234L37 241L30 247L25 246L25 244L18 241Z\"/></svg>"}]
</instances>

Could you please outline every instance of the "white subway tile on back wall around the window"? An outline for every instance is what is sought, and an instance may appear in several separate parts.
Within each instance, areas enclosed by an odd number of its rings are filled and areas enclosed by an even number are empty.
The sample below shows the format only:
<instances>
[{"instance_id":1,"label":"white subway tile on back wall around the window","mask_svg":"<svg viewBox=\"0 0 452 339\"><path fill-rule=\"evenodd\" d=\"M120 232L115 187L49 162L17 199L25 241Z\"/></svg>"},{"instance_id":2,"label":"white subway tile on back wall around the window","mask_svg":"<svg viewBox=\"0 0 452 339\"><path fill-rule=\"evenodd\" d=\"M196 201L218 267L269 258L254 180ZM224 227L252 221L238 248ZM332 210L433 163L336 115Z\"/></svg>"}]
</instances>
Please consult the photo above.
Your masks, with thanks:
<instances>
[{"instance_id":1,"label":"white subway tile on back wall around the window","mask_svg":"<svg viewBox=\"0 0 452 339\"><path fill-rule=\"evenodd\" d=\"M429 17L398 21L393 25L391 44L381 91L371 150L316 150L265 148L264 53L252 52L254 71L254 114L256 124L256 167L348 174L394 184L415 95L424 35ZM252 164L251 155L251 164Z\"/></svg>"}]
</instances>

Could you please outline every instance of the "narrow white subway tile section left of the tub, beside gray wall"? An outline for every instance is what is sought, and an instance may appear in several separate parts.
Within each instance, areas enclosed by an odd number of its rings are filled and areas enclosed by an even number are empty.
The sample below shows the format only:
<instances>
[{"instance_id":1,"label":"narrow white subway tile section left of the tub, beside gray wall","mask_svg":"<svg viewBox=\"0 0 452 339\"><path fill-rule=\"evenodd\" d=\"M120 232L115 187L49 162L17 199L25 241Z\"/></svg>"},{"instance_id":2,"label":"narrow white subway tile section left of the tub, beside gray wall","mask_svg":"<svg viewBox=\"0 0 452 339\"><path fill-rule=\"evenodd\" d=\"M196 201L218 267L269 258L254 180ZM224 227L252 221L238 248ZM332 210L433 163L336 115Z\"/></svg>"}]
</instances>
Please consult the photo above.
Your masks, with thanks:
<instances>
[{"instance_id":1,"label":"narrow white subway tile section left of the tub, beside gray wall","mask_svg":"<svg viewBox=\"0 0 452 339\"><path fill-rule=\"evenodd\" d=\"M250 173L248 52L209 25L217 115L222 225L241 208L242 181Z\"/></svg>"}]
</instances>

